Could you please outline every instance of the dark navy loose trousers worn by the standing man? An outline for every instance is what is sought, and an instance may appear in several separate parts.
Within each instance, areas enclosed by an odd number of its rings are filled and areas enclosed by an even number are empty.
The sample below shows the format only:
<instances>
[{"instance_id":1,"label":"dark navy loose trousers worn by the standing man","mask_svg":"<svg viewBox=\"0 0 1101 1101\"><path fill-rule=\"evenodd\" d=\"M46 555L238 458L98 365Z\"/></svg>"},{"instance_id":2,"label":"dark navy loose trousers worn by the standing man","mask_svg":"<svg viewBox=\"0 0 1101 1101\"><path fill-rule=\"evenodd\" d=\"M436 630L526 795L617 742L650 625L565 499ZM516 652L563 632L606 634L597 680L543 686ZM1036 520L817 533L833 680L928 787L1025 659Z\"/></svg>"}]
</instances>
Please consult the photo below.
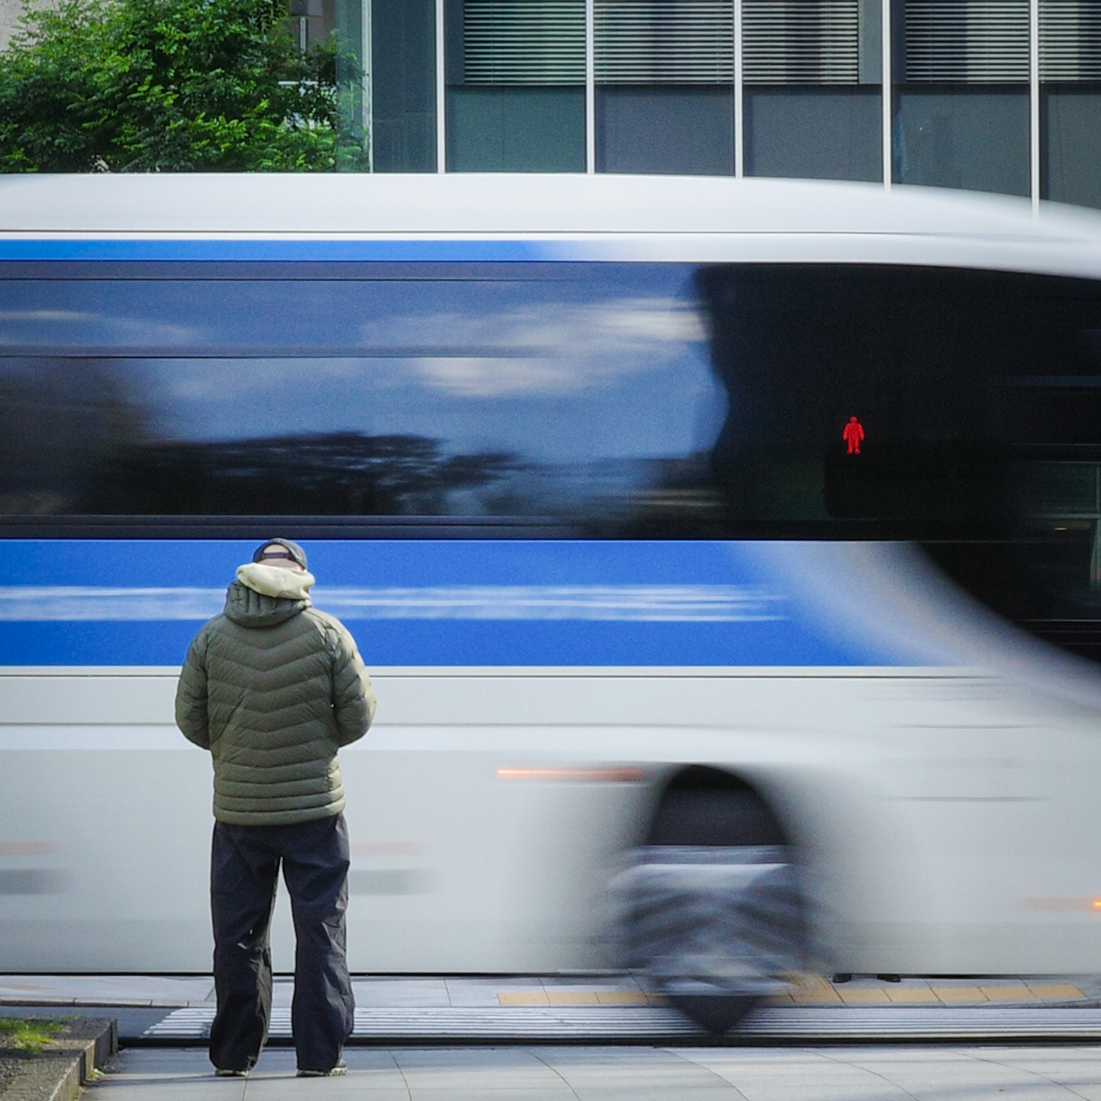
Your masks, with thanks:
<instances>
[{"instance_id":1,"label":"dark navy loose trousers worn by the standing man","mask_svg":"<svg viewBox=\"0 0 1101 1101\"><path fill-rule=\"evenodd\" d=\"M210 1061L248 1070L268 1038L269 931L280 864L294 915L291 1027L299 1070L328 1070L351 1035L356 1003L346 957L348 828L344 815L293 826L216 822L210 853L218 1012Z\"/></svg>"}]
</instances>

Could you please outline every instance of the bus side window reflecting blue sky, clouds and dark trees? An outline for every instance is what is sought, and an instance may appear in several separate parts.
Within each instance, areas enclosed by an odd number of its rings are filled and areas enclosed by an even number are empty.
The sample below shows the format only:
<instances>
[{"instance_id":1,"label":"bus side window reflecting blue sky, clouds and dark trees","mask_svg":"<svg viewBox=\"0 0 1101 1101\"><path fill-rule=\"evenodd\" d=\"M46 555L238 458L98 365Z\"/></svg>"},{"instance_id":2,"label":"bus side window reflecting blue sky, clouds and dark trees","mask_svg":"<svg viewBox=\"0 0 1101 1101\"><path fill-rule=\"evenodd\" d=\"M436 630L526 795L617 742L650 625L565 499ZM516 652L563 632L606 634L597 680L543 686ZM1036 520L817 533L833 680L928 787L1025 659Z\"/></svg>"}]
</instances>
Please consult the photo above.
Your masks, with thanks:
<instances>
[{"instance_id":1,"label":"bus side window reflecting blue sky, clouds and dark trees","mask_svg":"<svg viewBox=\"0 0 1101 1101\"><path fill-rule=\"evenodd\" d=\"M539 275L8 281L0 508L713 526L693 270Z\"/></svg>"}]
</instances>

